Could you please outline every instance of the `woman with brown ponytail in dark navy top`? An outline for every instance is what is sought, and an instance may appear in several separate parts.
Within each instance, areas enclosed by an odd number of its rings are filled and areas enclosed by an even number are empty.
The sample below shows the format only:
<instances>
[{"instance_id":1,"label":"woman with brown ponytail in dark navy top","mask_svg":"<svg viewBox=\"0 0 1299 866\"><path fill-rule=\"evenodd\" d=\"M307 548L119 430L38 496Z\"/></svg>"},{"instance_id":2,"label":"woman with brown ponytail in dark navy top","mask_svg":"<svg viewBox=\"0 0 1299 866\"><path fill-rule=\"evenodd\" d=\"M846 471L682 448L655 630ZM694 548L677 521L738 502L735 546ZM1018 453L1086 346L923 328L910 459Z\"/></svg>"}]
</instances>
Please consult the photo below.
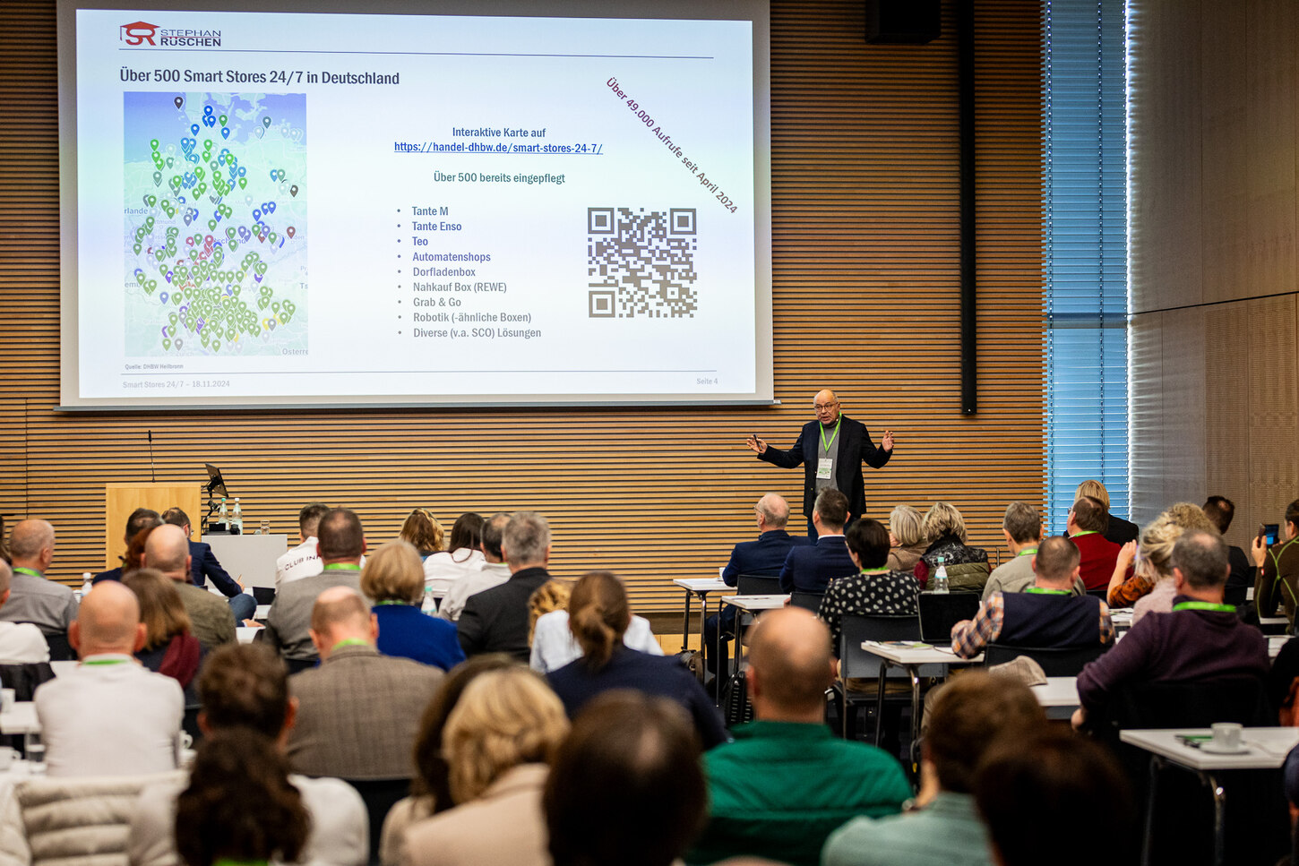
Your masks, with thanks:
<instances>
[{"instance_id":1,"label":"woman with brown ponytail in dark navy top","mask_svg":"<svg viewBox=\"0 0 1299 866\"><path fill-rule=\"evenodd\" d=\"M704 748L725 741L726 731L717 708L685 665L675 658L637 652L622 643L630 622L626 589L612 571L582 575L569 600L569 630L582 648L582 658L548 675L569 717L575 717L601 692L634 688L670 697L685 706Z\"/></svg>"}]
</instances>

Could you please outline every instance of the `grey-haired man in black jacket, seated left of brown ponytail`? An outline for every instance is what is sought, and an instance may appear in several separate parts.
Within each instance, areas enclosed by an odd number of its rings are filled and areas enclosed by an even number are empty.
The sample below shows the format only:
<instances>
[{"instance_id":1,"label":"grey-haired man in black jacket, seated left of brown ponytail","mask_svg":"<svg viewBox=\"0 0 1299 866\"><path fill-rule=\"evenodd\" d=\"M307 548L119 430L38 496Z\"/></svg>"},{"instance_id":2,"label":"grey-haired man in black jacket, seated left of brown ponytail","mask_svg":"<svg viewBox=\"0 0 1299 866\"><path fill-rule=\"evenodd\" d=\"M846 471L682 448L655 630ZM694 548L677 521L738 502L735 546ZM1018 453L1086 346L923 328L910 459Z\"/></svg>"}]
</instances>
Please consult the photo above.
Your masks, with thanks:
<instances>
[{"instance_id":1,"label":"grey-haired man in black jacket, seated left of brown ponytail","mask_svg":"<svg viewBox=\"0 0 1299 866\"><path fill-rule=\"evenodd\" d=\"M527 599L551 579L551 527L536 512L514 512L500 539L509 580L469 596L456 628L465 656L508 653L527 663Z\"/></svg>"}]
</instances>

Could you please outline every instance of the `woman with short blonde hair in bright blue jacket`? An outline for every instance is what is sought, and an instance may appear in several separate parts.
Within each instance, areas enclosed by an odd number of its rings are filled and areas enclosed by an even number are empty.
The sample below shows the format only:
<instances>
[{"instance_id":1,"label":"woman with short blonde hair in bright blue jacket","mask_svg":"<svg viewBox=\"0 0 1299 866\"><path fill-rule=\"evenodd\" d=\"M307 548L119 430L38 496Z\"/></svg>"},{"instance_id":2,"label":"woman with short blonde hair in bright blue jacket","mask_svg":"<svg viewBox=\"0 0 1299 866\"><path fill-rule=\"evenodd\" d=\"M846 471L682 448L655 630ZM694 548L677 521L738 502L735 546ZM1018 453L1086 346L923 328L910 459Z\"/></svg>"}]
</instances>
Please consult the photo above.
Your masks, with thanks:
<instances>
[{"instance_id":1,"label":"woman with short blonde hair in bright blue jacket","mask_svg":"<svg viewBox=\"0 0 1299 866\"><path fill-rule=\"evenodd\" d=\"M456 627L420 610L423 569L420 554L405 541L388 541L361 570L361 592L374 602L378 648L385 656L413 658L451 670L465 661Z\"/></svg>"}]
</instances>

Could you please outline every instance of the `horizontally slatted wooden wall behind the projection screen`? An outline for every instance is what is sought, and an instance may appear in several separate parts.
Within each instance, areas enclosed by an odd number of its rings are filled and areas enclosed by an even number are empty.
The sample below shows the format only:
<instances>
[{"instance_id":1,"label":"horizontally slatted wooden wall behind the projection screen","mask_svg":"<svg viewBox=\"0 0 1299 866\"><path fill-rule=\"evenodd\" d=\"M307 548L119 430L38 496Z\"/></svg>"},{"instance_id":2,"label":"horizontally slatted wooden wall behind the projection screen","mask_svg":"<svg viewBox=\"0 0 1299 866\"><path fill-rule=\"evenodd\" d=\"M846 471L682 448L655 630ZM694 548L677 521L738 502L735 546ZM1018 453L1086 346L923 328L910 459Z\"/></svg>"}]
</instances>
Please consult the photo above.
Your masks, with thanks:
<instances>
[{"instance_id":1,"label":"horizontally slatted wooden wall behind the projection screen","mask_svg":"<svg viewBox=\"0 0 1299 866\"><path fill-rule=\"evenodd\" d=\"M101 561L103 486L223 467L294 534L309 500L356 508L373 541L413 505L529 506L553 569L608 567L642 610L675 610L677 576L713 573L766 489L800 471L742 440L792 441L812 393L898 457L868 470L874 514L950 499L999 545L1012 499L1040 504L1039 9L978 0L979 413L959 412L955 6L930 45L863 42L863 4L772 3L773 409L55 414L58 367L55 4L0 5L0 508L60 531L55 575ZM416 4L412 4L412 9Z\"/></svg>"}]
</instances>

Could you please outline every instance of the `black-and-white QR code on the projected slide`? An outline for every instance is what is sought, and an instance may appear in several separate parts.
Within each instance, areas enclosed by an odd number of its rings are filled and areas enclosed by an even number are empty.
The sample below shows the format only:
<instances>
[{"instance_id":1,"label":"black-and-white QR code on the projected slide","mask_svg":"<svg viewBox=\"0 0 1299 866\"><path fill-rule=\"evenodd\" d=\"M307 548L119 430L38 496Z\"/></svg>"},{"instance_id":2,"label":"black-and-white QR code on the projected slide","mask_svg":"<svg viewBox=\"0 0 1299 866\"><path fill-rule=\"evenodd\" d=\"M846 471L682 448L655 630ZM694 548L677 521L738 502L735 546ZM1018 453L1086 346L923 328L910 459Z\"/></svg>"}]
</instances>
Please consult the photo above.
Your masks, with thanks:
<instances>
[{"instance_id":1,"label":"black-and-white QR code on the projected slide","mask_svg":"<svg viewBox=\"0 0 1299 866\"><path fill-rule=\"evenodd\" d=\"M587 208L587 315L694 318L695 209Z\"/></svg>"}]
</instances>

